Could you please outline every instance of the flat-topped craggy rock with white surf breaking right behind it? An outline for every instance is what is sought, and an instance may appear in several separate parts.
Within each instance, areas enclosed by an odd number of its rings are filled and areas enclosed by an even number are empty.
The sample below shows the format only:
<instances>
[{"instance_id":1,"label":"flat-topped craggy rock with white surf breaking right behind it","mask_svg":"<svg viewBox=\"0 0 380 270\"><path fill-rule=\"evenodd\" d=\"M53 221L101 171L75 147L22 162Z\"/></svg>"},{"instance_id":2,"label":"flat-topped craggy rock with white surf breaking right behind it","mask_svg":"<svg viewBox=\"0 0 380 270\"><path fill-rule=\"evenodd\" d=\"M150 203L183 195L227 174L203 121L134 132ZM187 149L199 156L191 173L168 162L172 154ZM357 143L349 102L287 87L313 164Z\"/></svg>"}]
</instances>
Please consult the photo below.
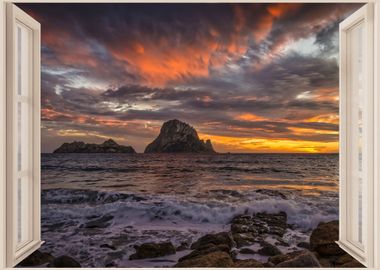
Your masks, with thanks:
<instances>
[{"instance_id":1,"label":"flat-topped craggy rock with white surf breaking right behind it","mask_svg":"<svg viewBox=\"0 0 380 270\"><path fill-rule=\"evenodd\" d=\"M231 222L232 233L252 233L258 236L264 233L283 236L288 227L285 212L277 214L257 213L253 216L242 215L235 217Z\"/></svg>"}]
</instances>

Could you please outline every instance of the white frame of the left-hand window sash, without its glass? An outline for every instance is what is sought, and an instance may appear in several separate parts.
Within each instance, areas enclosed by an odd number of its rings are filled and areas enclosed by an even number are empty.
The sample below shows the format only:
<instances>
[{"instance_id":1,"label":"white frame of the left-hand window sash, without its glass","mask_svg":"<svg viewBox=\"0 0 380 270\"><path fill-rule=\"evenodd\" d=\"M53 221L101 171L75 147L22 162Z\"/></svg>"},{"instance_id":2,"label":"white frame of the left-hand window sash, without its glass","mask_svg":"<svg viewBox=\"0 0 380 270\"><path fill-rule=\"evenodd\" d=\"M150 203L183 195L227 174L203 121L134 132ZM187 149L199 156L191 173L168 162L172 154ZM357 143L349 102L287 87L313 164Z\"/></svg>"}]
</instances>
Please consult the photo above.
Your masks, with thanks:
<instances>
[{"instance_id":1,"label":"white frame of the left-hand window sash, without its glass","mask_svg":"<svg viewBox=\"0 0 380 270\"><path fill-rule=\"evenodd\" d=\"M41 89L41 64L40 64L40 54L41 54L41 30L40 24L34 20L31 16L26 14L16 5L9 3L7 4L7 40L6 40L6 87L7 87L7 104L6 104L6 120L7 120L7 134L6 134L6 177L7 179L12 179L6 182L6 192L8 194L6 198L6 261L7 264L16 265L21 262L32 252L38 249L41 244L41 182L40 182L40 171L41 171L41 116L40 116L40 89ZM17 28L20 27L27 29L28 31L28 52L29 57L28 67L25 71L28 72L28 84L29 87L22 90L26 91L27 95L20 96L17 95L17 81L16 78L16 37ZM25 32L26 33L26 32ZM21 34L21 32L20 32ZM19 44L20 45L20 44ZM19 61L22 61L21 59ZM14 71L14 72L11 72ZM21 72L21 71L19 71ZM21 75L20 75L21 76ZM20 78L21 80L21 78ZM20 83L20 82L19 82ZM29 122L28 129L25 134L19 134L21 130L17 130L17 110L15 104L20 102L20 104L25 104L28 109L28 113L32 115L24 115L23 117L28 117ZM21 112L19 112L21 113ZM20 120L21 121L21 120ZM22 155L27 154L26 169L18 171L17 169L17 156L14 153L17 152L17 136L25 137L28 145L20 149ZM25 153L26 152L26 153ZM22 162L21 160L19 162ZM25 180L31 185L31 188L22 193L27 192L28 194L28 209L22 212L21 215L28 215L29 218L21 218L18 220L17 208L18 204L21 202L17 200L18 192L18 181L16 179L25 177ZM21 182L22 183L22 182ZM22 190L22 189L21 189ZM20 190L20 192L21 192ZM13 194L9 196L9 194ZM20 206L22 207L22 206ZM21 224L18 224L21 223ZM20 234L26 234L26 239L17 244L17 234L18 226L21 226ZM26 227L26 228L25 228Z\"/></svg>"}]
</instances>

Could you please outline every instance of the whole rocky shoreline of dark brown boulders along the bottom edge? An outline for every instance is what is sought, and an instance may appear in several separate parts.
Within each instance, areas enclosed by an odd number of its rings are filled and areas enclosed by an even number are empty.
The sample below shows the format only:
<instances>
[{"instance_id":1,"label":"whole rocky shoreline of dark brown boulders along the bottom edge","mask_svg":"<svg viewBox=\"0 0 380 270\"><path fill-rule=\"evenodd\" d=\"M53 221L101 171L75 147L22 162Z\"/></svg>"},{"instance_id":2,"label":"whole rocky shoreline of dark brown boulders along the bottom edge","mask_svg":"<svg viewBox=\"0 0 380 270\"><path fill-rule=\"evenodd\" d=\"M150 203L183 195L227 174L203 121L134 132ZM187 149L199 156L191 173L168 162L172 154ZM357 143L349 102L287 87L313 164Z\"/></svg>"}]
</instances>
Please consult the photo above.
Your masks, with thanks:
<instances>
[{"instance_id":1,"label":"whole rocky shoreline of dark brown boulders along the bottom edge","mask_svg":"<svg viewBox=\"0 0 380 270\"><path fill-rule=\"evenodd\" d=\"M186 252L169 267L364 267L335 243L339 236L338 221L320 223L312 231L309 242L299 242L297 248L287 253L280 249L289 246L284 235L291 225L284 212L239 215L231 220L230 225L229 231L206 234L193 243L182 243L177 247L171 242L134 246L135 252L129 255L129 260L164 259ZM268 237L272 241L268 241ZM117 250L113 245L107 245L107 248ZM242 258L244 255L248 257ZM54 257L36 251L18 266L80 267L80 264L69 256ZM119 265L111 262L104 267Z\"/></svg>"}]
</instances>

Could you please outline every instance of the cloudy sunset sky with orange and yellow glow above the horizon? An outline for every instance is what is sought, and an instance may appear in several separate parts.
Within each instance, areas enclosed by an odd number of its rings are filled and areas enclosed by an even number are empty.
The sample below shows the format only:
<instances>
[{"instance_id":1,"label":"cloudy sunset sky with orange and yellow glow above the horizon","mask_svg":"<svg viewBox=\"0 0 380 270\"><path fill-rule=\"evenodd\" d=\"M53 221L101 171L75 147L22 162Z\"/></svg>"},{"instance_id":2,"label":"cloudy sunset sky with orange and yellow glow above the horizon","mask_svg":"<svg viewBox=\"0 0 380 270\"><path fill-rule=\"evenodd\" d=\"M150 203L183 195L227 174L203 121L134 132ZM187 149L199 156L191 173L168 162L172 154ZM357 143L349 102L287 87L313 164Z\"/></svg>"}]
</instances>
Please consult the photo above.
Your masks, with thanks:
<instances>
[{"instance_id":1,"label":"cloudy sunset sky with orange and yellow glow above the horizon","mask_svg":"<svg viewBox=\"0 0 380 270\"><path fill-rule=\"evenodd\" d=\"M338 27L359 4L18 5L42 27L42 152L143 152L170 119L218 152L338 152Z\"/></svg>"}]
</instances>

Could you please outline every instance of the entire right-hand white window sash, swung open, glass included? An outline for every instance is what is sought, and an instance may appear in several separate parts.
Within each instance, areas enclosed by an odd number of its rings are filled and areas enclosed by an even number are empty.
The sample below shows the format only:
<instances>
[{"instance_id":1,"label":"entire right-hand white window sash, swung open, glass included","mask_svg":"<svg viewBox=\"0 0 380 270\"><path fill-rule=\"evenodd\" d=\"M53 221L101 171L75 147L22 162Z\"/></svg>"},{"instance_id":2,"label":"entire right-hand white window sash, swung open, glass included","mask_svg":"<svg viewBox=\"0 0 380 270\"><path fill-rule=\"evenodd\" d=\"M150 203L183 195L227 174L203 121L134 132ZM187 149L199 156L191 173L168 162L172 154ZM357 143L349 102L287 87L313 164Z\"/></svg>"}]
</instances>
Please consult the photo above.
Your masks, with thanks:
<instances>
[{"instance_id":1,"label":"entire right-hand white window sash, swung open, glass included","mask_svg":"<svg viewBox=\"0 0 380 270\"><path fill-rule=\"evenodd\" d=\"M340 239L367 267L373 265L374 87L373 7L340 24Z\"/></svg>"}]
</instances>

